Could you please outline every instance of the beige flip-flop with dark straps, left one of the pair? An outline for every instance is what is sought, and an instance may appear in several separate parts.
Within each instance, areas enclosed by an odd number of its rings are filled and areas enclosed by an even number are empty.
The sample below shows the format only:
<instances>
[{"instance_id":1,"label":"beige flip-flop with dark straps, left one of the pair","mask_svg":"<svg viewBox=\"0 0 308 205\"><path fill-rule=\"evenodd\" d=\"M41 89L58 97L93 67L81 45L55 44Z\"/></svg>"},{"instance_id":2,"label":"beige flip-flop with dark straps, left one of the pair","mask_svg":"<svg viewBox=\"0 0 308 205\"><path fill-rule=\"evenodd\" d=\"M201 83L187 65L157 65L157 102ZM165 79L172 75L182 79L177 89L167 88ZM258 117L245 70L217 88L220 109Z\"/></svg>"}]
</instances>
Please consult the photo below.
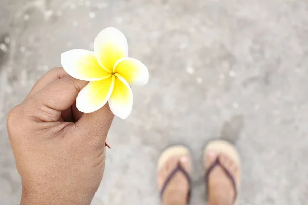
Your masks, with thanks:
<instances>
[{"instance_id":1,"label":"beige flip-flop with dark straps, left one of the pair","mask_svg":"<svg viewBox=\"0 0 308 205\"><path fill-rule=\"evenodd\" d=\"M165 163L171 158L171 157L181 157L181 156L188 156L189 159L191 159L191 154L189 149L184 145L173 145L167 147L160 155L158 162L157 162L157 171L161 170L161 168L165 165ZM187 172L180 162L178 162L178 165L175 167L175 169L169 174L169 176L165 179L164 185L162 186L160 190L161 198L163 198L164 192L169 185L171 179L175 176L176 173L182 172L187 181L188 181L188 196L187 196L187 203L189 203L190 196L191 196L191 187L192 187L192 181L191 181L191 167L190 170Z\"/></svg>"}]
</instances>

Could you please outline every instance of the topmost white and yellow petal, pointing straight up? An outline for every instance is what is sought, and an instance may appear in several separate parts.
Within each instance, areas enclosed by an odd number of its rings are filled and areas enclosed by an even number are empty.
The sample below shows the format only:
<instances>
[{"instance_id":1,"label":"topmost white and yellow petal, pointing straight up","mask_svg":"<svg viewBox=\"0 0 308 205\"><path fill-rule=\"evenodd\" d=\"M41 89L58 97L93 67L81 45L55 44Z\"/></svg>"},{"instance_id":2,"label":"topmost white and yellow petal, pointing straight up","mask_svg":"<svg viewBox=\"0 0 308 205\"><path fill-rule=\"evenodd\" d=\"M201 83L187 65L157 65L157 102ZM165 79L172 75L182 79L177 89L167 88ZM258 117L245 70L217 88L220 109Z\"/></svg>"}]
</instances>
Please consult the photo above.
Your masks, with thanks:
<instances>
[{"instance_id":1,"label":"topmost white and yellow petal, pointing straight up","mask_svg":"<svg viewBox=\"0 0 308 205\"><path fill-rule=\"evenodd\" d=\"M114 64L128 56L127 39L118 29L106 28L95 38L94 53L100 65L112 72Z\"/></svg>"}]
</instances>

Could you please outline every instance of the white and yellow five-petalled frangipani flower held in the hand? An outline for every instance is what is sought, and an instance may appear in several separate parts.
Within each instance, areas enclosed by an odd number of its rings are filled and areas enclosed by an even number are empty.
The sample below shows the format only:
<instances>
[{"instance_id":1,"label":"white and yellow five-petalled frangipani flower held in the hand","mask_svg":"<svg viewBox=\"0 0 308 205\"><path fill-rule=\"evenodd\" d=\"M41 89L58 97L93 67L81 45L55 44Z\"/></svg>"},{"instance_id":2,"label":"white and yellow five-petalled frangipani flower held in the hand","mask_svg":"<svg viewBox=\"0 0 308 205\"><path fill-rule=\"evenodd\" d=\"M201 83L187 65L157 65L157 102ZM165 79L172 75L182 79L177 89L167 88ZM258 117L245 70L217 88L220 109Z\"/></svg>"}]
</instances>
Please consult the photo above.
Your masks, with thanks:
<instances>
[{"instance_id":1,"label":"white and yellow five-petalled frangipani flower held in the hand","mask_svg":"<svg viewBox=\"0 0 308 205\"><path fill-rule=\"evenodd\" d=\"M77 97L77 109L91 113L108 101L114 115L126 119L132 110L132 85L145 85L149 79L146 66L128 57L124 34L115 28L101 31L94 42L94 52L74 49L61 54L61 64L72 77L89 81Z\"/></svg>"}]
</instances>

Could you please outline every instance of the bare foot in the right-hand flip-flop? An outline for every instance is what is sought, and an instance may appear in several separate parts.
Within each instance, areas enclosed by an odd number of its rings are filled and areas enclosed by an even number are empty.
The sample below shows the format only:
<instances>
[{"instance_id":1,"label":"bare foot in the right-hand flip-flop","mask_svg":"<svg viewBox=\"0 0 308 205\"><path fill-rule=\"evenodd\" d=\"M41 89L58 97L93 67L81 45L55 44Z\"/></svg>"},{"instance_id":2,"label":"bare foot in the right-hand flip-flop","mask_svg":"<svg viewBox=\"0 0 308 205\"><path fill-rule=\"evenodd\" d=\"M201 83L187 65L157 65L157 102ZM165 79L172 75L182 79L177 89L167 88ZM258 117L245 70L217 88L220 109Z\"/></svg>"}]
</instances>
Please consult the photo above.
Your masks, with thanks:
<instances>
[{"instance_id":1,"label":"bare foot in the right-hand flip-flop","mask_svg":"<svg viewBox=\"0 0 308 205\"><path fill-rule=\"evenodd\" d=\"M206 153L206 169L208 169L217 159L230 172L235 181L239 181L240 170L232 159L226 154L208 151ZM235 190L230 178L219 165L208 176L207 193L209 205L232 205L235 199Z\"/></svg>"}]
</instances>

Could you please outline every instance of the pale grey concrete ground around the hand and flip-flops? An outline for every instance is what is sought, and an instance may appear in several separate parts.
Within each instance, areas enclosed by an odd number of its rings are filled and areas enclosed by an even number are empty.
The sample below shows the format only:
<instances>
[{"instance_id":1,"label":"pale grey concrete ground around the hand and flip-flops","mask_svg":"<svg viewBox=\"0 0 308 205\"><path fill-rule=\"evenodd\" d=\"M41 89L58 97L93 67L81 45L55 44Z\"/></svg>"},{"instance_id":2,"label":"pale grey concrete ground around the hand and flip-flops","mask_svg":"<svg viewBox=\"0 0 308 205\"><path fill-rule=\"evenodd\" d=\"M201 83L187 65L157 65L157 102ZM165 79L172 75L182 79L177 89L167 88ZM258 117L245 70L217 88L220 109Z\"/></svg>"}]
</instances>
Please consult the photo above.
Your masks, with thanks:
<instances>
[{"instance_id":1,"label":"pale grey concrete ground around the hand and flip-flops","mask_svg":"<svg viewBox=\"0 0 308 205\"><path fill-rule=\"evenodd\" d=\"M191 204L205 204L202 149L217 138L241 154L241 204L307 204L306 0L0 0L0 204L21 192L6 113L62 52L92 49L108 26L150 81L114 121L93 205L159 204L156 160L175 142L193 150Z\"/></svg>"}]
</instances>

